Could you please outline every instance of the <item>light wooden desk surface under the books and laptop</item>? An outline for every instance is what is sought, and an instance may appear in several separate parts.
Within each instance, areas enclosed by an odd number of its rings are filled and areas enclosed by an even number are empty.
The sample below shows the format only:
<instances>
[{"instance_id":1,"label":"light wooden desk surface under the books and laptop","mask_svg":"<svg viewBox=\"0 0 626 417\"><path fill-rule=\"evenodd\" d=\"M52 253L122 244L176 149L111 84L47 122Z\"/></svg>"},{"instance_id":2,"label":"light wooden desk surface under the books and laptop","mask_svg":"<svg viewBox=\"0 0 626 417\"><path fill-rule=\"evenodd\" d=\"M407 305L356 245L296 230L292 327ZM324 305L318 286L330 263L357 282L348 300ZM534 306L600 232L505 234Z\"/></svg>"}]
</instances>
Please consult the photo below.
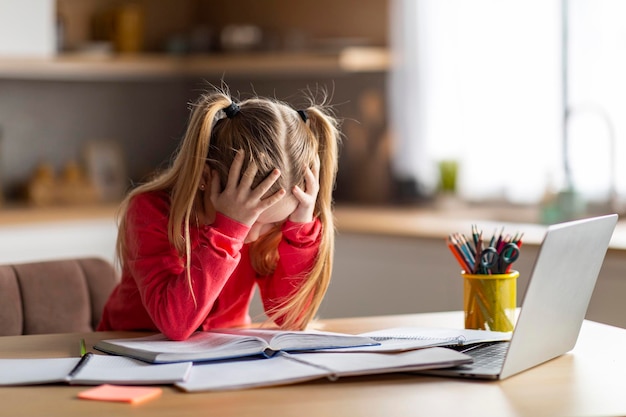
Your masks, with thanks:
<instances>
[{"instance_id":1,"label":"light wooden desk surface under the books and laptop","mask_svg":"<svg viewBox=\"0 0 626 417\"><path fill-rule=\"evenodd\" d=\"M459 327L460 312L333 319L317 327L359 333L392 326ZM123 332L0 337L1 357L75 356L78 340L91 346ZM163 396L138 406L76 399L85 387L0 388L7 416L608 416L626 415L626 330L591 321L576 348L499 382L414 375L346 378L284 387Z\"/></svg>"}]
</instances>

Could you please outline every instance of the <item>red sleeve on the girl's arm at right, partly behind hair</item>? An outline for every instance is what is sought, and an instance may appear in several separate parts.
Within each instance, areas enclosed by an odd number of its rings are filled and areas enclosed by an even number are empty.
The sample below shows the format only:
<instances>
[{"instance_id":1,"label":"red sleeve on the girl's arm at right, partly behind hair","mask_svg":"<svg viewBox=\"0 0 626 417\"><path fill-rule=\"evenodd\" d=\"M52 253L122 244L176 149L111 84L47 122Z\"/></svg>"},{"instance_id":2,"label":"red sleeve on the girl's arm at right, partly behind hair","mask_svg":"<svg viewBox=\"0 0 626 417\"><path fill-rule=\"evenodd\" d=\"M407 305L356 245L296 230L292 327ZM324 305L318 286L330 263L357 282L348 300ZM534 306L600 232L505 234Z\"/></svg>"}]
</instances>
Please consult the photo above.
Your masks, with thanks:
<instances>
[{"instance_id":1,"label":"red sleeve on the girl's arm at right, partly behind hair","mask_svg":"<svg viewBox=\"0 0 626 417\"><path fill-rule=\"evenodd\" d=\"M317 258L321 230L322 224L317 218L309 223L287 220L283 224L276 270L259 280L266 311L279 306L306 281Z\"/></svg>"}]
</instances>

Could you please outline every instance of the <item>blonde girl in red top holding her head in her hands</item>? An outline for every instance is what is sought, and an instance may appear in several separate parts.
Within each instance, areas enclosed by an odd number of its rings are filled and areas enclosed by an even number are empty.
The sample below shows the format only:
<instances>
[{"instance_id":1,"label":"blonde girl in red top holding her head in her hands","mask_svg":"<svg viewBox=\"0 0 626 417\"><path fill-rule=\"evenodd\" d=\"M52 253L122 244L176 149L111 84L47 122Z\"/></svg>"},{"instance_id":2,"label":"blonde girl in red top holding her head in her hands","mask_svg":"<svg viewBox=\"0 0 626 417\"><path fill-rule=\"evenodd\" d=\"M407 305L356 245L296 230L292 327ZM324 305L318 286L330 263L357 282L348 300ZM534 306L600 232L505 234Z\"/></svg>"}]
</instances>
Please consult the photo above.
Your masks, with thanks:
<instances>
[{"instance_id":1,"label":"blonde girl in red top holding her head in her hands","mask_svg":"<svg viewBox=\"0 0 626 417\"><path fill-rule=\"evenodd\" d=\"M320 106L201 96L171 166L122 203L122 279L98 330L246 325L255 284L276 324L306 327L332 270L339 138Z\"/></svg>"}]
</instances>

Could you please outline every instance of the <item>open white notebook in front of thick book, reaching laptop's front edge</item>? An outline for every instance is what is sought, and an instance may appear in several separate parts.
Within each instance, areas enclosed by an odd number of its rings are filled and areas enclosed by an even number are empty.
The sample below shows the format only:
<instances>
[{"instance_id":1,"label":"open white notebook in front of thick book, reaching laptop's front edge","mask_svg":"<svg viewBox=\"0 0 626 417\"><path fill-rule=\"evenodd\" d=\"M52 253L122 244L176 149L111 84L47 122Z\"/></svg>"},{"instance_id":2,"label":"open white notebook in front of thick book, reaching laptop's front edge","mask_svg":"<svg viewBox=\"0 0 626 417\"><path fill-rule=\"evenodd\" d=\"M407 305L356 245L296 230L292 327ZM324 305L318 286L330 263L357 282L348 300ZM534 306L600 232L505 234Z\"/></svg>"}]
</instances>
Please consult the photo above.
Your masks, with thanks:
<instances>
[{"instance_id":1,"label":"open white notebook in front of thick book, reaching laptop's front edge","mask_svg":"<svg viewBox=\"0 0 626 417\"><path fill-rule=\"evenodd\" d=\"M326 378L414 372L470 363L472 359L451 349L434 347L398 353L335 352L332 350L278 352L267 360L194 363L189 378L175 385L186 392L225 391L295 384Z\"/></svg>"}]
</instances>

